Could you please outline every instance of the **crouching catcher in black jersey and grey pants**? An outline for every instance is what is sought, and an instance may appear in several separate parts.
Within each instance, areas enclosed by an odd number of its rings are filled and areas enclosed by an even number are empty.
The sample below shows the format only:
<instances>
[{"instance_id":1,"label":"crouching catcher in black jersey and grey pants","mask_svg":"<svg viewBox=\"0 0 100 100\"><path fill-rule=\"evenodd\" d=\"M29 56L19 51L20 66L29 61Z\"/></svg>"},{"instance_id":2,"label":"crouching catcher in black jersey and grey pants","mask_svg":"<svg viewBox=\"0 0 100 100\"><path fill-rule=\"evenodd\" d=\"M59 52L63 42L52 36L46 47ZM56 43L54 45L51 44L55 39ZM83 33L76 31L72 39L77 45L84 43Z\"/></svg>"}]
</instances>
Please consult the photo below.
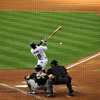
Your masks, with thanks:
<instances>
[{"instance_id":1,"label":"crouching catcher in black jersey and grey pants","mask_svg":"<svg viewBox=\"0 0 100 100\"><path fill-rule=\"evenodd\" d=\"M42 70L41 65L37 65L35 68L34 73L32 73L30 76L26 75L24 78L26 79L27 85L30 89L28 92L29 94L36 93L36 89L44 89L46 90L46 81L49 78L47 75L45 77L41 77L41 74L45 74L45 72Z\"/></svg>"}]
</instances>

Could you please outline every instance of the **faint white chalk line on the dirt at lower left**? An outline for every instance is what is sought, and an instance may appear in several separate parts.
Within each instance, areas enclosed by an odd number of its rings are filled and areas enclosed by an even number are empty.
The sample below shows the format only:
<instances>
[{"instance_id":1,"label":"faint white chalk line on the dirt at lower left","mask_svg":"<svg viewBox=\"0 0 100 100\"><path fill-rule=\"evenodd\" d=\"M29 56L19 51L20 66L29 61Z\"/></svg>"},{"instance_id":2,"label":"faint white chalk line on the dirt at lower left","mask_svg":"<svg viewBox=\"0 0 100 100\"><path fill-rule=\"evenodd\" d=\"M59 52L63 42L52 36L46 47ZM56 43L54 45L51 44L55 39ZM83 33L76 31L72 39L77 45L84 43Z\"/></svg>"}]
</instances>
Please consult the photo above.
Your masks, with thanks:
<instances>
[{"instance_id":1,"label":"faint white chalk line on the dirt at lower left","mask_svg":"<svg viewBox=\"0 0 100 100\"><path fill-rule=\"evenodd\" d=\"M23 94L28 95L27 92L25 92L25 91L23 91L23 90L21 90L21 89L19 89L19 88L15 88L15 87L13 87L13 86L10 86L10 85L4 84L4 83L0 83L0 85L1 85L1 86L4 86L4 87L7 87L7 88L10 88L10 89L14 89L14 90L16 90L16 91L18 91L18 92L21 92L21 93L23 93ZM42 97L37 96L37 95L32 95L32 96L34 96L35 98L38 98L38 99L42 99Z\"/></svg>"}]
</instances>

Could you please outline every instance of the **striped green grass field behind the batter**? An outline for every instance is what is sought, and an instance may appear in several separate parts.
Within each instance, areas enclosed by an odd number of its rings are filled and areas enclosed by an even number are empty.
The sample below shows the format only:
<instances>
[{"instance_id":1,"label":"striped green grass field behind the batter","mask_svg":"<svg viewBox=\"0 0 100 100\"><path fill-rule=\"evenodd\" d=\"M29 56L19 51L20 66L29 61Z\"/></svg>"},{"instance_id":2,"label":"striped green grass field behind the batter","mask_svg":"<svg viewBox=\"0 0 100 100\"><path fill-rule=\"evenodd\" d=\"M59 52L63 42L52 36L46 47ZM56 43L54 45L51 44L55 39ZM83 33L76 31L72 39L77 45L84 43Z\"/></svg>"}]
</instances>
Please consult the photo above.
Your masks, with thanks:
<instances>
[{"instance_id":1,"label":"striped green grass field behind the batter","mask_svg":"<svg viewBox=\"0 0 100 100\"><path fill-rule=\"evenodd\" d=\"M37 60L29 43L40 42L60 25L63 28L47 42L49 63L56 59L66 65L100 51L96 13L0 11L0 69L33 68Z\"/></svg>"}]
</instances>

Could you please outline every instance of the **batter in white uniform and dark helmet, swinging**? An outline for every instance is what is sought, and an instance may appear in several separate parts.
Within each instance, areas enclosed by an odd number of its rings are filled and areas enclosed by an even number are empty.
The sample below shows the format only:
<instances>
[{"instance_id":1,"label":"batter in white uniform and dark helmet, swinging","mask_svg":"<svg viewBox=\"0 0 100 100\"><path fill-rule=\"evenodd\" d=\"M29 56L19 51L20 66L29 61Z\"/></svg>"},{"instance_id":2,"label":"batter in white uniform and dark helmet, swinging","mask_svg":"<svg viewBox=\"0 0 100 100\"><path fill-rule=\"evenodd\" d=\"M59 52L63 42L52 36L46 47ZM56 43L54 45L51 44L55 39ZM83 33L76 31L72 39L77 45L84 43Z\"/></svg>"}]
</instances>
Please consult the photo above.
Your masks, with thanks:
<instances>
[{"instance_id":1,"label":"batter in white uniform and dark helmet, swinging","mask_svg":"<svg viewBox=\"0 0 100 100\"><path fill-rule=\"evenodd\" d=\"M41 46L42 43L44 43L44 46ZM30 46L31 46L31 53L38 60L37 65L41 65L42 70L44 70L45 66L48 63L48 59L45 54L45 51L47 50L46 41L41 40L41 42L38 45L36 45L34 42L31 42Z\"/></svg>"}]
</instances>

